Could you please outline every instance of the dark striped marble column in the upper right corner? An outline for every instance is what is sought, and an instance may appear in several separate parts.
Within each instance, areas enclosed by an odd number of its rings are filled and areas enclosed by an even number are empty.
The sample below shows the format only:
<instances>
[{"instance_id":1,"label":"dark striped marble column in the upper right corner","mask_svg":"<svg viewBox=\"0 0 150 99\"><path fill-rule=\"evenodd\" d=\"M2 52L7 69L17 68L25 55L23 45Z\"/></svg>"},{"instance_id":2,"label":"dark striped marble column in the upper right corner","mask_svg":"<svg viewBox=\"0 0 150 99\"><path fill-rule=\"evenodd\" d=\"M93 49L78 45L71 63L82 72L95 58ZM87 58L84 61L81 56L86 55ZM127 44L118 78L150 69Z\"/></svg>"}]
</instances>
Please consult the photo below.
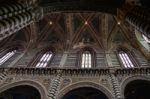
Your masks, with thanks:
<instances>
[{"instance_id":1,"label":"dark striped marble column in the upper right corner","mask_svg":"<svg viewBox=\"0 0 150 99\"><path fill-rule=\"evenodd\" d=\"M148 9L135 6L126 14L125 19L150 39L150 13Z\"/></svg>"}]
</instances>

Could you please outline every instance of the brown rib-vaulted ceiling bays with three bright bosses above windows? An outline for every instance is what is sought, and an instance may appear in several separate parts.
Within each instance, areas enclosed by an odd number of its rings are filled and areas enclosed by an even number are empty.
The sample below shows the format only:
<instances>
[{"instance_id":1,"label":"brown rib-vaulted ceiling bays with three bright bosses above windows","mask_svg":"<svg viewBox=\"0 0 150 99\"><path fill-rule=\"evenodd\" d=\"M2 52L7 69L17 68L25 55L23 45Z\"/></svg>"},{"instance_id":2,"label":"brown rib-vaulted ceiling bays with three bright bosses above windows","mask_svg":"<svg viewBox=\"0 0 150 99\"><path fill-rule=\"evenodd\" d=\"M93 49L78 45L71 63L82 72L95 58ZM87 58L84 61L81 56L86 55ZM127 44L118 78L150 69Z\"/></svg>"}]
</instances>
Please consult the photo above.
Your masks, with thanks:
<instances>
[{"instance_id":1,"label":"brown rib-vaulted ceiling bays with three bright bosses above windows","mask_svg":"<svg viewBox=\"0 0 150 99\"><path fill-rule=\"evenodd\" d=\"M118 25L115 16L100 12L53 13L36 24L39 46L50 44L64 50L107 49L109 41L126 42L130 39L126 32L133 32L125 25L122 25L125 28Z\"/></svg>"}]
</instances>

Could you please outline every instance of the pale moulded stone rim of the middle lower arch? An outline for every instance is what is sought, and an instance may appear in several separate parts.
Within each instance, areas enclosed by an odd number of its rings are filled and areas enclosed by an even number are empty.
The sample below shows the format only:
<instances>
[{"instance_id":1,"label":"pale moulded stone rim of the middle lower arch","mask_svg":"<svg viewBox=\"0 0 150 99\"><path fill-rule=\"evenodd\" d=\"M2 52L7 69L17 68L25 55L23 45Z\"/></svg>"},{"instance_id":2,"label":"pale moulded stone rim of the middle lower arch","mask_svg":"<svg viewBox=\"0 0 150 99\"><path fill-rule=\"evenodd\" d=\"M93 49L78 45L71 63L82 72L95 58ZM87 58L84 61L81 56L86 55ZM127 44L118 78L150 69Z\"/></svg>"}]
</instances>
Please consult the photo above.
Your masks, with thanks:
<instances>
[{"instance_id":1,"label":"pale moulded stone rim of the middle lower arch","mask_svg":"<svg viewBox=\"0 0 150 99\"><path fill-rule=\"evenodd\" d=\"M96 84L94 82L78 82L78 83L73 83L73 84L67 86L66 88L60 90L60 92L59 92L59 94L57 96L57 99L61 99L69 91L71 91L73 89L80 88L80 87L91 87L91 88L98 89L99 91L101 91L102 93L104 93L109 99L113 99L113 95L110 92L110 90L108 90L104 86Z\"/></svg>"}]
</instances>

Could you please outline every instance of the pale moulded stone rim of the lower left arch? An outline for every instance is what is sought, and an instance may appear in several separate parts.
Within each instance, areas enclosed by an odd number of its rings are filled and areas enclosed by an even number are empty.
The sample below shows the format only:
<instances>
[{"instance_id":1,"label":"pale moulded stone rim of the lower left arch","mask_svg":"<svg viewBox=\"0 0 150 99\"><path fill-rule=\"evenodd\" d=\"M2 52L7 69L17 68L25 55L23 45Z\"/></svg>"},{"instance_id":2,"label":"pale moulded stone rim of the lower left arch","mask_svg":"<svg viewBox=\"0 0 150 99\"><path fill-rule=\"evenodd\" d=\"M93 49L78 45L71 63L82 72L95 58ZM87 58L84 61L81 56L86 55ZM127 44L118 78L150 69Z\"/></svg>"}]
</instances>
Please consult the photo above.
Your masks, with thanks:
<instances>
[{"instance_id":1,"label":"pale moulded stone rim of the lower left arch","mask_svg":"<svg viewBox=\"0 0 150 99\"><path fill-rule=\"evenodd\" d=\"M0 93L4 92L7 89L10 89L12 87L21 86L21 85L28 85L28 86L32 86L32 87L36 88L41 95L41 99L46 99L46 89L44 88L44 86L41 85L40 83L32 81L32 80L17 81L17 82L13 82L13 83L7 84L5 86L2 86L2 87L0 87Z\"/></svg>"}]
</instances>

